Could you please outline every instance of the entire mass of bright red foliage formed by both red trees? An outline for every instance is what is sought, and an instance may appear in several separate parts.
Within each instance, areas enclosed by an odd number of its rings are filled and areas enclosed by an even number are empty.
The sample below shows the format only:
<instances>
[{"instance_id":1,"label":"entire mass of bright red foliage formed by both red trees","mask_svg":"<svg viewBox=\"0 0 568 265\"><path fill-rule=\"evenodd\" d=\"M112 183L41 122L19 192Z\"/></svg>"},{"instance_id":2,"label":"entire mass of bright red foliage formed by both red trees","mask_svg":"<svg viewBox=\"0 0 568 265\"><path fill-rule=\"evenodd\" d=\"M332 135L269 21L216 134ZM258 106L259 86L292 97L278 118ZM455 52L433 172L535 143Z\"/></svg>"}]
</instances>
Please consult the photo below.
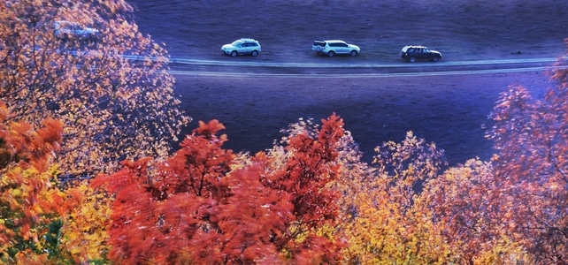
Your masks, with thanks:
<instances>
[{"instance_id":1,"label":"entire mass of bright red foliage formed by both red trees","mask_svg":"<svg viewBox=\"0 0 568 265\"><path fill-rule=\"evenodd\" d=\"M200 122L164 163L125 161L124 169L93 181L116 196L111 261L339 261L336 195L326 186L336 177L341 119L325 120L316 138L292 135L288 147L276 148L282 152L260 152L246 165L222 148L222 129L215 120Z\"/></svg>"}]
</instances>

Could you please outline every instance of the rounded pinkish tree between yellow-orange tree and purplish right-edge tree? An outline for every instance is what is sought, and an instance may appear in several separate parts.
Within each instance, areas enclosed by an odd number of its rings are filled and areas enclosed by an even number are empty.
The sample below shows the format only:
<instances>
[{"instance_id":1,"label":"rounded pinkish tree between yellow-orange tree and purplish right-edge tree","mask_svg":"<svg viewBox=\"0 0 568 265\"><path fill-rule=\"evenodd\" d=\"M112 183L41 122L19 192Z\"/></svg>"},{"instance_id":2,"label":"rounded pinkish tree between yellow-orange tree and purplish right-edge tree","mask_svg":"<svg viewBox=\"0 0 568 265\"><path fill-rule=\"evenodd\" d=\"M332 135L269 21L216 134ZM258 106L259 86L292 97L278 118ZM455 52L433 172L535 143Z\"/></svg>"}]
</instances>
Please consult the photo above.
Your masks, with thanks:
<instances>
[{"instance_id":1,"label":"rounded pinkish tree between yellow-orange tree and purplish right-edge tree","mask_svg":"<svg viewBox=\"0 0 568 265\"><path fill-rule=\"evenodd\" d=\"M460 264L533 263L515 233L517 201L503 193L503 181L489 162L471 159L426 181L421 197Z\"/></svg>"}]
</instances>

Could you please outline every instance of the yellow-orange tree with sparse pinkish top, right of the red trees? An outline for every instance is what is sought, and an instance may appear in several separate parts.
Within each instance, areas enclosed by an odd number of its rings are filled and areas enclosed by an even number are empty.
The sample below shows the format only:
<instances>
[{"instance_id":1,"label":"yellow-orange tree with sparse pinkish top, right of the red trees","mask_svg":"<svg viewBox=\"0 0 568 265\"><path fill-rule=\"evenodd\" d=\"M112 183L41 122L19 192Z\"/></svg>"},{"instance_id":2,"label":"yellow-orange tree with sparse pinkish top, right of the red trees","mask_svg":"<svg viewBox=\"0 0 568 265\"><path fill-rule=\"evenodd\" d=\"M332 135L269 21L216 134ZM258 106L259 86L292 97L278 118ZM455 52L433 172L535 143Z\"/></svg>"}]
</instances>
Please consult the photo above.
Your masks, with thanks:
<instances>
[{"instance_id":1,"label":"yellow-orange tree with sparse pinkish top, right of the red trees","mask_svg":"<svg viewBox=\"0 0 568 265\"><path fill-rule=\"evenodd\" d=\"M345 150L352 150L345 148ZM372 166L357 153L342 155L342 223L349 239L346 260L356 264L442 264L449 245L422 199L426 179L445 166L443 151L409 132L375 149ZM347 159L349 158L349 159ZM355 158L355 159L353 159Z\"/></svg>"}]
</instances>

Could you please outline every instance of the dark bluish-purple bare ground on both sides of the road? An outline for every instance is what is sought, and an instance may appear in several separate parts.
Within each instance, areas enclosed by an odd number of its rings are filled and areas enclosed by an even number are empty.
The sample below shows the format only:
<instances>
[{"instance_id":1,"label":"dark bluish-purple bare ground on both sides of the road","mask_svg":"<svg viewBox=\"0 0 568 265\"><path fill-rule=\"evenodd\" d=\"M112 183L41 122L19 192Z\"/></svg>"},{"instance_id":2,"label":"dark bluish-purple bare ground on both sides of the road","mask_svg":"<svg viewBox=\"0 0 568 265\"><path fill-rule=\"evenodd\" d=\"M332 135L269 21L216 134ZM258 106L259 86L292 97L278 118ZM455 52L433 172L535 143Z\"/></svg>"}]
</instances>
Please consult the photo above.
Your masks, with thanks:
<instances>
[{"instance_id":1,"label":"dark bluish-purple bare ground on both sides of the road","mask_svg":"<svg viewBox=\"0 0 568 265\"><path fill-rule=\"evenodd\" d=\"M173 58L274 64L400 64L408 44L441 51L436 64L565 55L568 4L542 0L134 1L140 31L164 42ZM225 57L222 44L252 37L258 57ZM317 57L311 42L343 39L357 57ZM431 62L419 63L424 72ZM448 66L451 67L451 66ZM451 69L451 68L448 68ZM446 69L446 70L448 70ZM280 139L299 117L336 112L371 161L383 141L407 131L446 150L451 164L493 153L482 125L498 95L520 84L539 97L551 86L544 72L372 79L176 76L182 107L197 120L227 127L226 148L256 152Z\"/></svg>"}]
</instances>

